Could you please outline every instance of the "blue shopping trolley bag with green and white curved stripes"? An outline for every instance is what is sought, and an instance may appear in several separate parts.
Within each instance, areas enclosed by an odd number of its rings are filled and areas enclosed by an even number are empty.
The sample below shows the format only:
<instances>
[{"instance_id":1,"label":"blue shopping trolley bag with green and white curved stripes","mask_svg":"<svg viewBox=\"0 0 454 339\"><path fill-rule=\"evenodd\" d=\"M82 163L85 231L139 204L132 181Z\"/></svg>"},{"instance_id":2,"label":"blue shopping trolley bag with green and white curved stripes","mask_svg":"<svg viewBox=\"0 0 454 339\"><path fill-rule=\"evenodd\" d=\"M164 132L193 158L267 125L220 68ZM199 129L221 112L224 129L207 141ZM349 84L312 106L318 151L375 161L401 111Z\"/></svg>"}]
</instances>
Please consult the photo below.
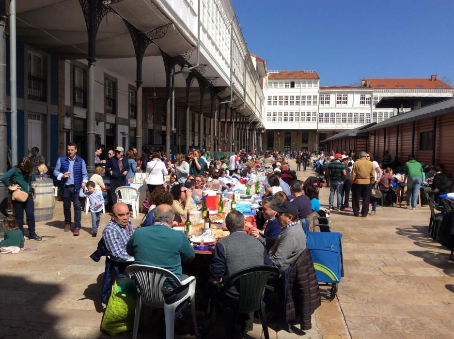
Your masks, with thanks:
<instances>
[{"instance_id":1,"label":"blue shopping trolley bag with green and white curved stripes","mask_svg":"<svg viewBox=\"0 0 454 339\"><path fill-rule=\"evenodd\" d=\"M343 276L342 233L308 232L307 247L311 252L318 282L337 284Z\"/></svg>"}]
</instances>

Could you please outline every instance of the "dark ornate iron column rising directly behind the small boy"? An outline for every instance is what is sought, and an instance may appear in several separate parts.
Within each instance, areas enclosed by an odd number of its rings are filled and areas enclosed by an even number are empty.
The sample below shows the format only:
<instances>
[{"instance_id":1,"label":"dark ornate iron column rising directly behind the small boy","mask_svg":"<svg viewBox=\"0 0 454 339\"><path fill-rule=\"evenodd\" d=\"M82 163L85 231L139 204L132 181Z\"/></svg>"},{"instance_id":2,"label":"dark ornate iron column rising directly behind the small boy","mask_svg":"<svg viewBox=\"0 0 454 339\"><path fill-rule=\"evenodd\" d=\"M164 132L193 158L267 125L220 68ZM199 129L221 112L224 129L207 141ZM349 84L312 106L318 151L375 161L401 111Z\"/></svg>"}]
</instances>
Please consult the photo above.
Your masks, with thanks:
<instances>
[{"instance_id":1,"label":"dark ornate iron column rising directly behind the small boy","mask_svg":"<svg viewBox=\"0 0 454 339\"><path fill-rule=\"evenodd\" d=\"M116 1L118 2L118 1ZM96 120L94 112L94 74L96 66L96 33L102 18L112 10L101 0L79 0L88 33L88 109L87 109L87 171L94 173ZM80 154L83 156L83 154Z\"/></svg>"}]
</instances>

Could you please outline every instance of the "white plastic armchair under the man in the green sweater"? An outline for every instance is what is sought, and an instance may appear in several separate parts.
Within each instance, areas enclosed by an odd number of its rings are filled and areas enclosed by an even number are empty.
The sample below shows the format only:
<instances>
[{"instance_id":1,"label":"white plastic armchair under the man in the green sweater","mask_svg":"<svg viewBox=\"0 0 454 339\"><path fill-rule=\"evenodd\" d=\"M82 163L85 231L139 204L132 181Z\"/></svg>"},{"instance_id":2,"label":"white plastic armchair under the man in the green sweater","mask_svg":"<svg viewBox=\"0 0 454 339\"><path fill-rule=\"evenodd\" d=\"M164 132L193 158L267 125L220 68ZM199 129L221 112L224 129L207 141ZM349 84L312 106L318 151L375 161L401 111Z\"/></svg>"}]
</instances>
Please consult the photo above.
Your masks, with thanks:
<instances>
[{"instance_id":1,"label":"white plastic armchair under the man in the green sweater","mask_svg":"<svg viewBox=\"0 0 454 339\"><path fill-rule=\"evenodd\" d=\"M137 298L136 312L134 315L134 339L137 339L142 303L154 308L164 308L166 338L173 339L175 309L178 308L178 306L188 298L191 304L194 333L196 337L199 337L194 300L195 277L188 277L187 279L180 281L180 279L178 279L178 277L176 277L172 272L164 268L148 265L130 265L126 267L125 277L129 277L130 279L134 278L140 290L140 296ZM162 293L164 281L167 278L172 278L177 287L186 285L188 285L189 287L188 293L186 293L186 295L181 299L175 301L173 304L166 304L166 302L164 301L164 295Z\"/></svg>"}]
</instances>

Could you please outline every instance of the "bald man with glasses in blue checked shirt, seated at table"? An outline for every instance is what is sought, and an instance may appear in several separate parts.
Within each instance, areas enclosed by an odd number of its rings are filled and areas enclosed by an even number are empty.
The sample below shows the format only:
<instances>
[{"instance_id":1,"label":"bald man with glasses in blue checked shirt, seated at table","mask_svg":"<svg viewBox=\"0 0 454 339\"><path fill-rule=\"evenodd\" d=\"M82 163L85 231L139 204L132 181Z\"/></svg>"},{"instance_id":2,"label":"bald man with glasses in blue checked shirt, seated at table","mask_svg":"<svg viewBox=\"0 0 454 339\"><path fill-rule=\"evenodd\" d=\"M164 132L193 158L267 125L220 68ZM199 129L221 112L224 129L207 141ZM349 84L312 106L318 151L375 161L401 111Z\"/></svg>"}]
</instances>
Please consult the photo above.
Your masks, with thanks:
<instances>
[{"instance_id":1,"label":"bald man with glasses in blue checked shirt, seated at table","mask_svg":"<svg viewBox=\"0 0 454 339\"><path fill-rule=\"evenodd\" d=\"M103 231L104 243L115 261L134 260L126 252L126 244L134 233L134 227L129 221L129 207L124 202L118 202L112 207L111 220Z\"/></svg>"}]
</instances>

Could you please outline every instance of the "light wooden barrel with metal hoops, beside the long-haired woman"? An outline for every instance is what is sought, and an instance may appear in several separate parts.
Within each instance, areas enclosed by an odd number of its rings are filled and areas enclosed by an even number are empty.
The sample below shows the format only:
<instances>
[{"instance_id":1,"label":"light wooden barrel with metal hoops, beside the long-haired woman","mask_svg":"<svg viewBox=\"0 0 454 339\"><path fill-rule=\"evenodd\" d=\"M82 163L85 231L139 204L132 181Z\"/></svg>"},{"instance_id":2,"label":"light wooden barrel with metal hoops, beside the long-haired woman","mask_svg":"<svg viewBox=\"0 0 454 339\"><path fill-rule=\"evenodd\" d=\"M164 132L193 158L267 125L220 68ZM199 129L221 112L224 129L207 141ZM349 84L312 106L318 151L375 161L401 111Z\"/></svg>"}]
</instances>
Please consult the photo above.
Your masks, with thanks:
<instances>
[{"instance_id":1,"label":"light wooden barrel with metal hoops, beside the long-haired woman","mask_svg":"<svg viewBox=\"0 0 454 339\"><path fill-rule=\"evenodd\" d=\"M52 179L36 180L34 187L35 221L51 220L54 216L55 197Z\"/></svg>"}]
</instances>

